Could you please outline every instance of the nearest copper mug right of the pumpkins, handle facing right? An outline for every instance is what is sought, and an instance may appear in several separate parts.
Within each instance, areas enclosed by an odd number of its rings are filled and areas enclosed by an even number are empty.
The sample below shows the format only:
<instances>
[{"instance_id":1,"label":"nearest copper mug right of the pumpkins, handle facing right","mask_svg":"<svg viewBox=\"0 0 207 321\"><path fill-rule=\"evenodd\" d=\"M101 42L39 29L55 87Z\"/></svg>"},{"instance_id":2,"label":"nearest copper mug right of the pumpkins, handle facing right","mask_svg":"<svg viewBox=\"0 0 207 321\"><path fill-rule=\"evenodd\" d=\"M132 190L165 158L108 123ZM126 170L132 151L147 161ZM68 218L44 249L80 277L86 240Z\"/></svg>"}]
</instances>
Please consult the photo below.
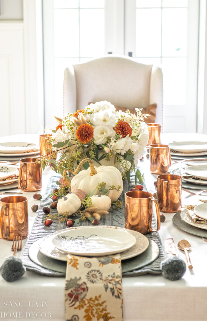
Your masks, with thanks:
<instances>
[{"instance_id":1,"label":"nearest copper mug right of the pumpkins, handle facing right","mask_svg":"<svg viewBox=\"0 0 207 321\"><path fill-rule=\"evenodd\" d=\"M152 228L153 203L156 207L157 229ZM125 194L125 228L142 234L160 229L160 211L157 200L145 191L129 191Z\"/></svg>"}]
</instances>

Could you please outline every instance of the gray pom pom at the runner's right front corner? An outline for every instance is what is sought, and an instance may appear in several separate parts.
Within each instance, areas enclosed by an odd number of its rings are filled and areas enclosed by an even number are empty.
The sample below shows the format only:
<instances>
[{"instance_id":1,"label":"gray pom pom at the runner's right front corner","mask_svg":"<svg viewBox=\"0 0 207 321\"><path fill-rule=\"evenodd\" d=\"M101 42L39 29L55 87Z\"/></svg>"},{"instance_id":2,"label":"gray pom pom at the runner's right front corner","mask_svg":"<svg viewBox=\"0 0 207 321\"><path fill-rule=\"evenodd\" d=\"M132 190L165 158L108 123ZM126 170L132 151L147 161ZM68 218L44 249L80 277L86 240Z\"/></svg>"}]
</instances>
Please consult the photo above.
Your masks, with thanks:
<instances>
[{"instance_id":1,"label":"gray pom pom at the runner's right front corner","mask_svg":"<svg viewBox=\"0 0 207 321\"><path fill-rule=\"evenodd\" d=\"M170 257L161 263L162 275L171 281L179 280L186 272L186 263L179 257Z\"/></svg>"}]
</instances>

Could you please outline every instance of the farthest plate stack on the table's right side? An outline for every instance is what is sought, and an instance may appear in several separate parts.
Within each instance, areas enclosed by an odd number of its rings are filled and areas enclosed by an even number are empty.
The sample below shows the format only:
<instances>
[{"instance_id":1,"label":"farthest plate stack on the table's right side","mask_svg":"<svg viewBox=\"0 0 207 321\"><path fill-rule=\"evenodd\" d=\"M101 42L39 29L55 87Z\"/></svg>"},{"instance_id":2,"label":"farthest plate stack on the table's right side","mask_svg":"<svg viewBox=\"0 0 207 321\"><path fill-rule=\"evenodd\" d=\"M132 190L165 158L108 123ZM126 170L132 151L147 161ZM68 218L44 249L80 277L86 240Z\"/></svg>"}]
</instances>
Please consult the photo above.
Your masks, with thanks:
<instances>
[{"instance_id":1,"label":"farthest plate stack on the table's right side","mask_svg":"<svg viewBox=\"0 0 207 321\"><path fill-rule=\"evenodd\" d=\"M168 145L172 159L203 158L207 155L207 142L172 142Z\"/></svg>"}]
</instances>

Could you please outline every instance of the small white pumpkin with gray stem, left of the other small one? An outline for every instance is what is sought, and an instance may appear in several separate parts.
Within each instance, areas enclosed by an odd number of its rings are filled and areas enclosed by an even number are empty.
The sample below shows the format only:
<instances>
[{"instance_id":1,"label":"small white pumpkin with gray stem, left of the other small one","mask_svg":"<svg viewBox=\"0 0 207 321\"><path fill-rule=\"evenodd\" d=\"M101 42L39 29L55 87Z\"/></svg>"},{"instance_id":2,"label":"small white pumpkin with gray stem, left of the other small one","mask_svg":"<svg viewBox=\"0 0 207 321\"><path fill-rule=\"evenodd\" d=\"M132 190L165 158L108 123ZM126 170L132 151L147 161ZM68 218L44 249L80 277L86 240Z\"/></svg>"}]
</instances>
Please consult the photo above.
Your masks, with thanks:
<instances>
[{"instance_id":1,"label":"small white pumpkin with gray stem, left of the other small one","mask_svg":"<svg viewBox=\"0 0 207 321\"><path fill-rule=\"evenodd\" d=\"M81 200L76 194L69 193L66 196L63 195L61 199L58 200L57 210L59 214L67 212L69 215L78 211L81 206Z\"/></svg>"}]
</instances>

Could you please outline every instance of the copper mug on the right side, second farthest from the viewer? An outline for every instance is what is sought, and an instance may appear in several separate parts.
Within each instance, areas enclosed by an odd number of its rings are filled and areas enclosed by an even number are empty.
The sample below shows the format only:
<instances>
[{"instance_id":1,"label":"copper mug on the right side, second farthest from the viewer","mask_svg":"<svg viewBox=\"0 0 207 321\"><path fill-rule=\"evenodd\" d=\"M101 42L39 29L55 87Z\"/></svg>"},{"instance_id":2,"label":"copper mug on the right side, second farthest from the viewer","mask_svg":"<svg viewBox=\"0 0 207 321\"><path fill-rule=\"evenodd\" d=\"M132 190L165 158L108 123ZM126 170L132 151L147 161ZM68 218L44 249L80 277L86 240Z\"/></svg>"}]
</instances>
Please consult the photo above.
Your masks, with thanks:
<instances>
[{"instance_id":1,"label":"copper mug on the right side, second farthest from the viewer","mask_svg":"<svg viewBox=\"0 0 207 321\"><path fill-rule=\"evenodd\" d=\"M163 144L150 145L150 171L153 174L164 174L171 166L170 147Z\"/></svg>"}]
</instances>

